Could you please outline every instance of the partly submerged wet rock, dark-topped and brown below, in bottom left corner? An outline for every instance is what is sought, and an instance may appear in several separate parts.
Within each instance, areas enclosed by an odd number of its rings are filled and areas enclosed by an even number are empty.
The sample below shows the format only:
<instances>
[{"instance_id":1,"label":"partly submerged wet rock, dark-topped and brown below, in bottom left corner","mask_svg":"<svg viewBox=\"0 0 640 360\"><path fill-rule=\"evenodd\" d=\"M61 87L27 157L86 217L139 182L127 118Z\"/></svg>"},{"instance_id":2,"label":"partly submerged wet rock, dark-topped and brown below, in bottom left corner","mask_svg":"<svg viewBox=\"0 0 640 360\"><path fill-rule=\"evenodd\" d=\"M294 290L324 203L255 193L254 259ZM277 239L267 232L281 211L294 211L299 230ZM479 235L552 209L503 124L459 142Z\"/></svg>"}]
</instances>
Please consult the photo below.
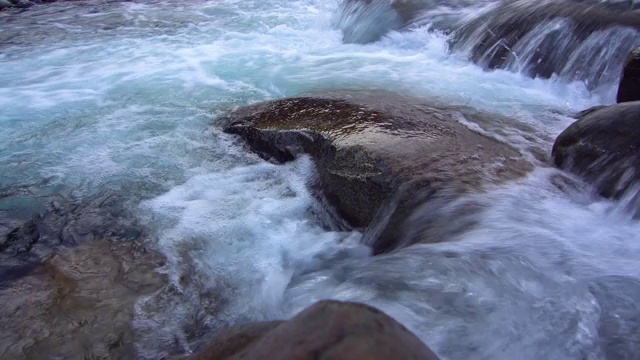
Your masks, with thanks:
<instances>
[{"instance_id":1,"label":"partly submerged wet rock, dark-topped and brown below, in bottom left corner","mask_svg":"<svg viewBox=\"0 0 640 360\"><path fill-rule=\"evenodd\" d=\"M120 196L56 199L0 233L0 358L134 358L134 305L165 258Z\"/></svg>"}]
</instances>

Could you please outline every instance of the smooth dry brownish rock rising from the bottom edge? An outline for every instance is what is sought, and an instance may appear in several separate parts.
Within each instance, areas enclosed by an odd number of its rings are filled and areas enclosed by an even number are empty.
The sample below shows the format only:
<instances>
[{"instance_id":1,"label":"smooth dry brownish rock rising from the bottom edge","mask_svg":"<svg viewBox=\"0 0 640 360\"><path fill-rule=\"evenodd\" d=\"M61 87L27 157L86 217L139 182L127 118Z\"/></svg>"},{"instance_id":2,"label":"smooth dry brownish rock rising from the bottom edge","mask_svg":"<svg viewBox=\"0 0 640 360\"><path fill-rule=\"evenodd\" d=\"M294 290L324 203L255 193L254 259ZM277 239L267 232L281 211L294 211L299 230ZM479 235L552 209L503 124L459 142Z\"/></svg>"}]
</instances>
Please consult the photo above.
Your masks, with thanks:
<instances>
[{"instance_id":1,"label":"smooth dry brownish rock rising from the bottom edge","mask_svg":"<svg viewBox=\"0 0 640 360\"><path fill-rule=\"evenodd\" d=\"M404 326L372 307L321 301L287 322L245 325L219 335L191 360L436 360Z\"/></svg>"}]
</instances>

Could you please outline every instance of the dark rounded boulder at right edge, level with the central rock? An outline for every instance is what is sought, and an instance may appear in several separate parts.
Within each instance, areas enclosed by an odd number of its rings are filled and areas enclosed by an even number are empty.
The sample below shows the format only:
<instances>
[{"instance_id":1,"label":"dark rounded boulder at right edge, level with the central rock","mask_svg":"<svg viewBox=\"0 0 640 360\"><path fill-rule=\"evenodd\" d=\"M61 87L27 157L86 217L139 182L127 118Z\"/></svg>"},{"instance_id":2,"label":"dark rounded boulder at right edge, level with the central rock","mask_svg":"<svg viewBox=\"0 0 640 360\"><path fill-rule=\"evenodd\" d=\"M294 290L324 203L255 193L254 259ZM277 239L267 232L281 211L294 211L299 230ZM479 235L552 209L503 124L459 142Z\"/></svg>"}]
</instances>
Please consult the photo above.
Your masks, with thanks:
<instances>
[{"instance_id":1,"label":"dark rounded boulder at right edge, level with the central rock","mask_svg":"<svg viewBox=\"0 0 640 360\"><path fill-rule=\"evenodd\" d=\"M605 197L620 197L640 180L640 102L583 112L558 136L552 153L559 168Z\"/></svg>"}]
</instances>

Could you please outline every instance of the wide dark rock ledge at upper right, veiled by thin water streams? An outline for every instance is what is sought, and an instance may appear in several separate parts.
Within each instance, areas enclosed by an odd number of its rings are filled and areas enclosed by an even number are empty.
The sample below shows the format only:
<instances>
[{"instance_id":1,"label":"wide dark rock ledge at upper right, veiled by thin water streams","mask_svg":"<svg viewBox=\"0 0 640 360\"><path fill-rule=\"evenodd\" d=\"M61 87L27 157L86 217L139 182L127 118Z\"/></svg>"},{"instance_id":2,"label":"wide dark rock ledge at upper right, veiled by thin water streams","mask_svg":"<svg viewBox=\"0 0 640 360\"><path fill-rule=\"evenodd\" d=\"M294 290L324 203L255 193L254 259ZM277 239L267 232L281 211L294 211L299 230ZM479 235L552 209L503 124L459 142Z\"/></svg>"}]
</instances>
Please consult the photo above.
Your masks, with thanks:
<instances>
[{"instance_id":1,"label":"wide dark rock ledge at upper right, veiled by thin water streams","mask_svg":"<svg viewBox=\"0 0 640 360\"><path fill-rule=\"evenodd\" d=\"M504 1L464 23L452 48L488 69L524 70L583 80L591 88L616 81L640 36L640 13L578 1ZM592 43L585 40L605 31Z\"/></svg>"}]
</instances>

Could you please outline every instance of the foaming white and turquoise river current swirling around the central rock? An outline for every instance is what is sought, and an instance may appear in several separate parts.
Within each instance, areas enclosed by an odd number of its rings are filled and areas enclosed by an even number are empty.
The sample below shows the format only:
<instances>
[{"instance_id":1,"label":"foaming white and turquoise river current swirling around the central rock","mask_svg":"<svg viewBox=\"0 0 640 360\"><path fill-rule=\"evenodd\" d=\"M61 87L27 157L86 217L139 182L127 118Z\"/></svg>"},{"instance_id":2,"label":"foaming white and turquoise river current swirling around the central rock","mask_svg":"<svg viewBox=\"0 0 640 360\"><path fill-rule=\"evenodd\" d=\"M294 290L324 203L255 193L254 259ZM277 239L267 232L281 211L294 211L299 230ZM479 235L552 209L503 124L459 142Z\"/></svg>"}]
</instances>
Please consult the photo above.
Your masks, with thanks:
<instances>
[{"instance_id":1,"label":"foaming white and turquoise river current swirling around the central rock","mask_svg":"<svg viewBox=\"0 0 640 360\"><path fill-rule=\"evenodd\" d=\"M464 232L372 257L307 190L310 159L267 163L220 132L216 118L238 106L384 89L508 115L536 133L488 126L487 135L545 157L571 114L614 102L615 83L590 91L484 71L425 19L344 43L341 4L96 1L0 12L3 219L37 213L53 195L120 194L166 256L171 282L136 303L140 358L188 353L231 324L289 318L320 299L376 306L442 359L637 358L640 224L624 200L565 184L537 161L525 179L448 204L443 223L465 221L456 212L465 202L482 205Z\"/></svg>"}]
</instances>

